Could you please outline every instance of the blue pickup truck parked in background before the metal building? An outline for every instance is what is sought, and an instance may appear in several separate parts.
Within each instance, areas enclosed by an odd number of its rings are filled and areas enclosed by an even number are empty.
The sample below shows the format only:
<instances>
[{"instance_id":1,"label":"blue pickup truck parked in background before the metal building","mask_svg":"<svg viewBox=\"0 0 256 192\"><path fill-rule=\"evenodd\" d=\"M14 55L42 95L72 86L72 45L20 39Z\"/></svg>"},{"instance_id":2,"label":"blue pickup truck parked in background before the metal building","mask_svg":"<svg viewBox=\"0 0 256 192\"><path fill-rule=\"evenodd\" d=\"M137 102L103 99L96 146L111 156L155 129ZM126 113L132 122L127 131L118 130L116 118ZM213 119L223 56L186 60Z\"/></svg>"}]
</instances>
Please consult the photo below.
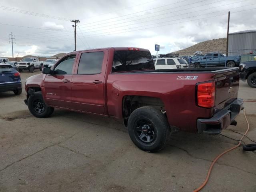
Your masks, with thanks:
<instances>
[{"instance_id":1,"label":"blue pickup truck parked in background before the metal building","mask_svg":"<svg viewBox=\"0 0 256 192\"><path fill-rule=\"evenodd\" d=\"M241 56L224 56L221 53L208 53L202 58L192 61L195 68L200 67L238 67Z\"/></svg>"}]
</instances>

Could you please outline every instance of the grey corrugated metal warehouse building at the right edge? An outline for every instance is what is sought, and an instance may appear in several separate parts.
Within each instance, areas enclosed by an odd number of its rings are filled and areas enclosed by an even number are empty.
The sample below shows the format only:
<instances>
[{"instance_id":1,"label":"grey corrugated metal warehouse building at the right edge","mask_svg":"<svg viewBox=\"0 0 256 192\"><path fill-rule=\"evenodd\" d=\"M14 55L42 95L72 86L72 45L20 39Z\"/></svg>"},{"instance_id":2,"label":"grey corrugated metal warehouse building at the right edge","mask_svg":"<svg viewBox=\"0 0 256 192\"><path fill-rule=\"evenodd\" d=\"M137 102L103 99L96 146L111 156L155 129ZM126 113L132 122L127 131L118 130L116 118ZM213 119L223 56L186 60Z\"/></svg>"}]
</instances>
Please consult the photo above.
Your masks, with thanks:
<instances>
[{"instance_id":1,"label":"grey corrugated metal warehouse building at the right edge","mask_svg":"<svg viewBox=\"0 0 256 192\"><path fill-rule=\"evenodd\" d=\"M228 55L236 56L256 50L256 30L228 34Z\"/></svg>"}]
</instances>

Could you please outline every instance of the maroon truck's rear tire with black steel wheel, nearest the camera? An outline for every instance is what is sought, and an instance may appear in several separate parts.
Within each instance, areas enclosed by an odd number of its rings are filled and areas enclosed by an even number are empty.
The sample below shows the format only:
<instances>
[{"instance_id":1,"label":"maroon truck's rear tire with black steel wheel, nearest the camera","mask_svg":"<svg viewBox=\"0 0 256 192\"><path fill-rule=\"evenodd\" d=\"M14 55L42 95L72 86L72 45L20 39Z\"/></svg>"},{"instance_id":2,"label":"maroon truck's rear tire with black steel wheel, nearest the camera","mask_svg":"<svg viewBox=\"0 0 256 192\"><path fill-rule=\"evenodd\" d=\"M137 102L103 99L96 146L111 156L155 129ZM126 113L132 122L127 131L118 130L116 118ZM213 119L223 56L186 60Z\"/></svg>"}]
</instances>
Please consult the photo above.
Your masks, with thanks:
<instances>
[{"instance_id":1,"label":"maroon truck's rear tire with black steel wheel, nearest the camera","mask_svg":"<svg viewBox=\"0 0 256 192\"><path fill-rule=\"evenodd\" d=\"M132 112L128 119L128 132L132 142L148 152L163 149L170 138L166 116L160 110L149 106Z\"/></svg>"}]
</instances>

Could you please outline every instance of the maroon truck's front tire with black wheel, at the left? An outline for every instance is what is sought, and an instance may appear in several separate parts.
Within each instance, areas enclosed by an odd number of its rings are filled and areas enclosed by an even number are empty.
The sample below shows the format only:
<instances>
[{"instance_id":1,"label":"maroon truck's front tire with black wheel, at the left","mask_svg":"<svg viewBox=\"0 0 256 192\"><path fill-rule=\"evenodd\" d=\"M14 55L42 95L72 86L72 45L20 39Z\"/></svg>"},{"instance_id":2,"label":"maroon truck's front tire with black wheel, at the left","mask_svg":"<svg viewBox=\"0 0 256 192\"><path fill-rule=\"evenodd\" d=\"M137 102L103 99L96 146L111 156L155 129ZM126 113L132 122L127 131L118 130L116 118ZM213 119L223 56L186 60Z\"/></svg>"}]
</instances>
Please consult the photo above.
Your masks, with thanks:
<instances>
[{"instance_id":1,"label":"maroon truck's front tire with black wheel, at the left","mask_svg":"<svg viewBox=\"0 0 256 192\"><path fill-rule=\"evenodd\" d=\"M49 117L54 111L53 107L44 103L41 91L35 92L28 98L28 109L32 115L38 118Z\"/></svg>"}]
</instances>

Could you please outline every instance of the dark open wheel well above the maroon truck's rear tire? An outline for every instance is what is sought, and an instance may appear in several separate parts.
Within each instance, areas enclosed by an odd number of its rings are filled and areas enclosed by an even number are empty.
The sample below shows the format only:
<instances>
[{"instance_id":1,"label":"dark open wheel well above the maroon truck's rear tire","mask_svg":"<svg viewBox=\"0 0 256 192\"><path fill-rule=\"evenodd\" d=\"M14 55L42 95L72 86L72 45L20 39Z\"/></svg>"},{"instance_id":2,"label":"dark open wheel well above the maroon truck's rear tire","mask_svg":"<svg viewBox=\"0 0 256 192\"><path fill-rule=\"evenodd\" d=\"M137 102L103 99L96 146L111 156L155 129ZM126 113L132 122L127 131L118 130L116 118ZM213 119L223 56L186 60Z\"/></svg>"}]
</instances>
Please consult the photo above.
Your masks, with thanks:
<instances>
[{"instance_id":1,"label":"dark open wheel well above the maroon truck's rear tire","mask_svg":"<svg viewBox=\"0 0 256 192\"><path fill-rule=\"evenodd\" d=\"M124 96L122 100L122 116L124 125L127 126L130 114L142 106L151 106L165 112L164 103L160 98L148 96Z\"/></svg>"}]
</instances>

